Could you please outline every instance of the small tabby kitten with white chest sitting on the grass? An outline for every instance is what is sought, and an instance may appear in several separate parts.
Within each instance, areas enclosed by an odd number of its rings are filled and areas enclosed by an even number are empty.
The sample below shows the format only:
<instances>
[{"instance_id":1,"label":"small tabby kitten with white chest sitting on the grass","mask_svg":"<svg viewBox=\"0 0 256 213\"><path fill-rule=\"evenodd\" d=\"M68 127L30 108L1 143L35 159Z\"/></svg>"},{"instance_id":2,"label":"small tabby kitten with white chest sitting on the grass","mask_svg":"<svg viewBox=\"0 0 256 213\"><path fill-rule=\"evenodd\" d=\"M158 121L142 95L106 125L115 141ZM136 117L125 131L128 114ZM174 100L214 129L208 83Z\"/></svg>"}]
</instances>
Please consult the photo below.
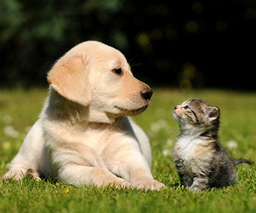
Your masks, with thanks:
<instances>
[{"instance_id":1,"label":"small tabby kitten with white chest sitting on the grass","mask_svg":"<svg viewBox=\"0 0 256 213\"><path fill-rule=\"evenodd\" d=\"M188 99L174 108L181 133L174 148L174 162L181 184L189 190L235 185L235 165L218 142L220 110L201 99Z\"/></svg>"}]
</instances>

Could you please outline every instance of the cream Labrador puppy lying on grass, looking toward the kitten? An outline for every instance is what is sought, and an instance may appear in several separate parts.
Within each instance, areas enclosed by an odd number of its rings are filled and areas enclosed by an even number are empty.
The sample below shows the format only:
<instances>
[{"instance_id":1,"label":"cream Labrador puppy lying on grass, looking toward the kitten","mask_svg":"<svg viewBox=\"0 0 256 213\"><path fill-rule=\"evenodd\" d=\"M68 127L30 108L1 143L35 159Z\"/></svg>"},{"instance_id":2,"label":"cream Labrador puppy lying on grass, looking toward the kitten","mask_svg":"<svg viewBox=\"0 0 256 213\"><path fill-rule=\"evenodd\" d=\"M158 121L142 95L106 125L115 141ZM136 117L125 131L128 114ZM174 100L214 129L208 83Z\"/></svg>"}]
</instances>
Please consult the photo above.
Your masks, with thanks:
<instances>
[{"instance_id":1,"label":"cream Labrador puppy lying on grass, looking toward the kitten","mask_svg":"<svg viewBox=\"0 0 256 213\"><path fill-rule=\"evenodd\" d=\"M151 149L126 117L142 113L152 90L118 50L97 41L72 48L48 72L49 97L4 179L49 175L73 185L160 190Z\"/></svg>"}]
</instances>

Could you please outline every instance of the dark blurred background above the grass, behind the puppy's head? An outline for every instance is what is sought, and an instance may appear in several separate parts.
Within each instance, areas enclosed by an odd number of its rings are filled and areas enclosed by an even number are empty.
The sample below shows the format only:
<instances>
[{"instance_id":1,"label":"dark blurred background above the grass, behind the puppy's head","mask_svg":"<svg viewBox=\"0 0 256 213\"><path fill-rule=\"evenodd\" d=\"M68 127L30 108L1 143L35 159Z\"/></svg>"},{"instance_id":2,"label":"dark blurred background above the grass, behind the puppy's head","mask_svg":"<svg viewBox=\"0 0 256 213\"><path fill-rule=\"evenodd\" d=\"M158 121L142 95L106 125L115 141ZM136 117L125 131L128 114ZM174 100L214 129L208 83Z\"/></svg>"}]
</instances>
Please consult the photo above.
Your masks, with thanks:
<instances>
[{"instance_id":1,"label":"dark blurred background above the grass, behind the puppy's head","mask_svg":"<svg viewBox=\"0 0 256 213\"><path fill-rule=\"evenodd\" d=\"M255 0L1 0L0 87L44 86L55 60L100 40L151 86L255 90L255 27Z\"/></svg>"}]
</instances>

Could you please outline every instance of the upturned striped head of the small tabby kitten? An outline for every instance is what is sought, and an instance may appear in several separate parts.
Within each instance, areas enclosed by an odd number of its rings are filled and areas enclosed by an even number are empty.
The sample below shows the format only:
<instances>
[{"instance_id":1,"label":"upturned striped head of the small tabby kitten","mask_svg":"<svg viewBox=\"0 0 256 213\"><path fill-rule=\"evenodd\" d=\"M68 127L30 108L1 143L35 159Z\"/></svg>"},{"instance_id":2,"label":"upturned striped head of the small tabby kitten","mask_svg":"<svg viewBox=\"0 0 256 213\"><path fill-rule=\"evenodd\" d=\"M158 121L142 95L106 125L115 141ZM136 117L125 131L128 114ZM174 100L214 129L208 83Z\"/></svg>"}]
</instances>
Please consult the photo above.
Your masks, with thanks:
<instances>
[{"instance_id":1,"label":"upturned striped head of the small tabby kitten","mask_svg":"<svg viewBox=\"0 0 256 213\"><path fill-rule=\"evenodd\" d=\"M174 119L181 131L218 131L220 109L211 107L201 99L188 99L174 107Z\"/></svg>"}]
</instances>

